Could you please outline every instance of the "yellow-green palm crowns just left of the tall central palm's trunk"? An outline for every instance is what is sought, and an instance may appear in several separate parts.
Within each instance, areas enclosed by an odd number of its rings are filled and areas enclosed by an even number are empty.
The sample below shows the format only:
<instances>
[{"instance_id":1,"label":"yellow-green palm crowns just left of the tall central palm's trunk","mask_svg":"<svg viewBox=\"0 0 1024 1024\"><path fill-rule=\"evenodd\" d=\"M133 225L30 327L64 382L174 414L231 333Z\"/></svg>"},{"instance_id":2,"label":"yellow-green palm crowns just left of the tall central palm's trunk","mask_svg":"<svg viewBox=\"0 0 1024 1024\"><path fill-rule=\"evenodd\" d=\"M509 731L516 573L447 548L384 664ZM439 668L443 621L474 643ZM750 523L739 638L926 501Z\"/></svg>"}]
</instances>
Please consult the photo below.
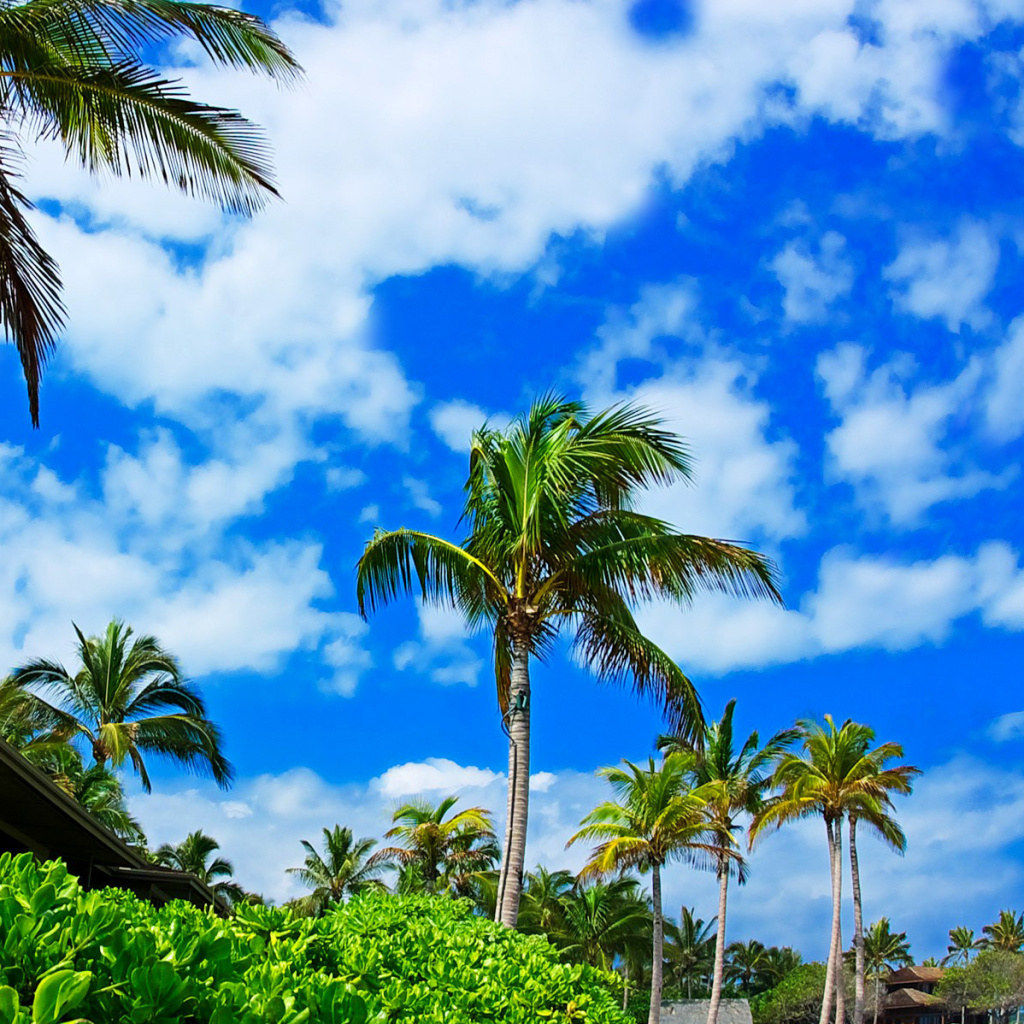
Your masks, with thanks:
<instances>
[{"instance_id":1,"label":"yellow-green palm crowns just left of the tall central palm's trunk","mask_svg":"<svg viewBox=\"0 0 1024 1024\"><path fill-rule=\"evenodd\" d=\"M399 868L415 865L428 892L459 894L460 884L465 886L474 872L493 866L498 848L489 811L467 807L445 817L458 802L458 797L445 797L436 807L425 800L402 804L384 836L398 837L404 846L385 847L370 862Z\"/></svg>"}]
</instances>

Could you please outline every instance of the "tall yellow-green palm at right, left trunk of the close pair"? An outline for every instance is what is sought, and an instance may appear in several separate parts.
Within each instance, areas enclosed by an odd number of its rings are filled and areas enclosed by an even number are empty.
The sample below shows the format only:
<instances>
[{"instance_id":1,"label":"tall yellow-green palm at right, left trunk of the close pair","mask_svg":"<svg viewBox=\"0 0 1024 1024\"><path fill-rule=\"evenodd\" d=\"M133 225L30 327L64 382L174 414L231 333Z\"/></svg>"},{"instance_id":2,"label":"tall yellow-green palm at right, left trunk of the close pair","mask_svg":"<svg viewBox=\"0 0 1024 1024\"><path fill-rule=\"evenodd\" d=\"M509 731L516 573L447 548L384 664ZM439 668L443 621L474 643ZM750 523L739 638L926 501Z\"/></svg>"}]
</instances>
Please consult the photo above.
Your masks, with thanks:
<instances>
[{"instance_id":1,"label":"tall yellow-green palm at right, left trunk of the close pair","mask_svg":"<svg viewBox=\"0 0 1024 1024\"><path fill-rule=\"evenodd\" d=\"M883 743L871 751L874 732L868 726L847 719L837 727L830 715L825 715L824 719L824 726L809 719L797 723L802 753L786 752L779 758L772 782L781 793L755 815L751 840L755 842L767 829L778 828L790 821L808 817L824 820L833 914L820 1024L827 1024L834 999L837 1024L842 1024L843 823L851 810L862 813L868 801L873 800L881 807L889 806L892 787L885 773L898 773L902 769L885 769L884 765L893 757L899 757L902 751L896 743Z\"/></svg>"}]
</instances>

